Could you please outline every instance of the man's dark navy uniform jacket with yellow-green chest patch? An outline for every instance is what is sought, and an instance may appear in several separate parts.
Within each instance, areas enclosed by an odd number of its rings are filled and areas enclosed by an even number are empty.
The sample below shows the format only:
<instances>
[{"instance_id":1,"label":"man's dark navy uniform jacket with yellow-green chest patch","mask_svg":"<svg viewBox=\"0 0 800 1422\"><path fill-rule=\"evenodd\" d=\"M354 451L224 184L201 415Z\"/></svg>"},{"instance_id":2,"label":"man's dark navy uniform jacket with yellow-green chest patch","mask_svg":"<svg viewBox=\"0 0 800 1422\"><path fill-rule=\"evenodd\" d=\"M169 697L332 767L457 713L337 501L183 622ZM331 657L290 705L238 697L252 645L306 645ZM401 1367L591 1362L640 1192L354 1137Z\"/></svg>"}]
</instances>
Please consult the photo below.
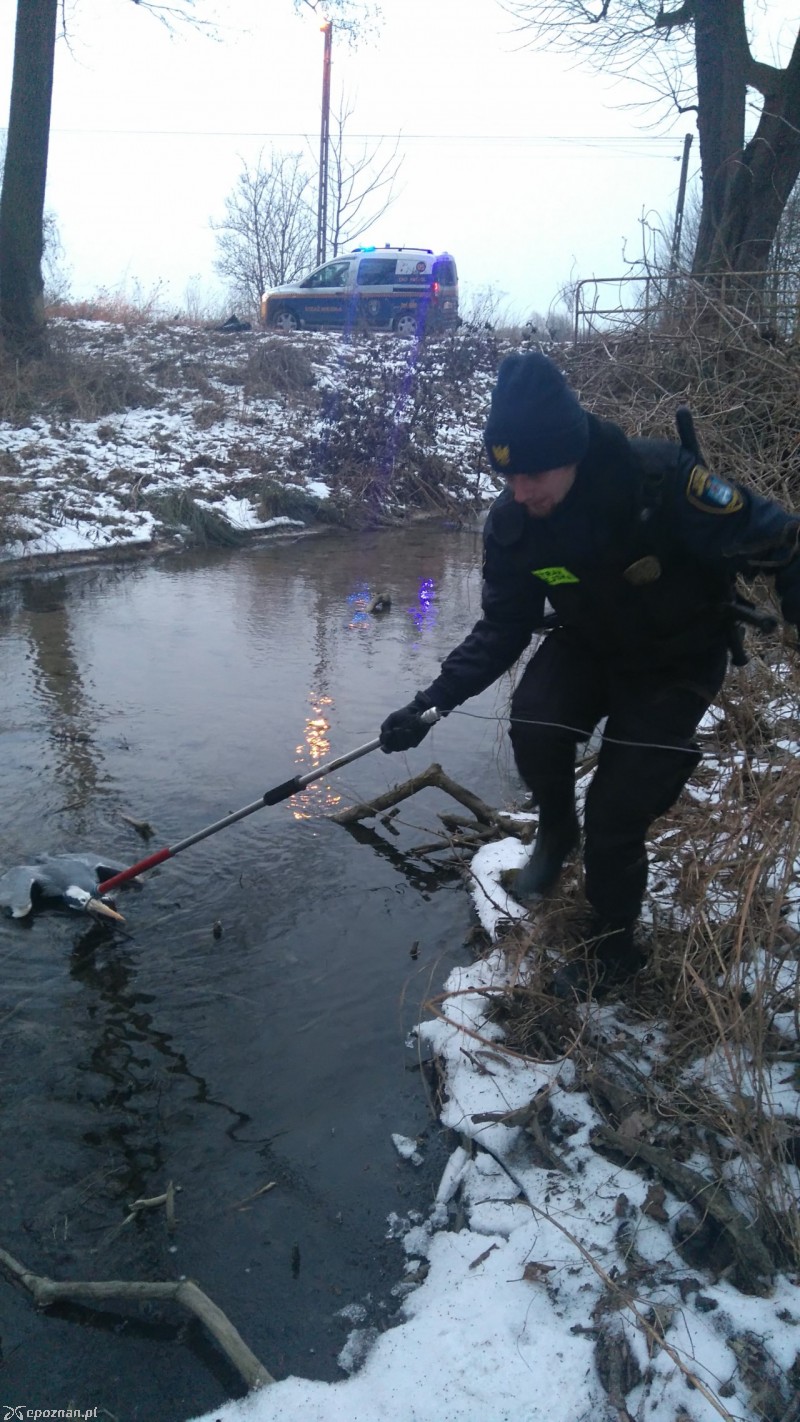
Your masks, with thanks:
<instances>
[{"instance_id":1,"label":"man's dark navy uniform jacket with yellow-green chest patch","mask_svg":"<svg viewBox=\"0 0 800 1422\"><path fill-rule=\"evenodd\" d=\"M669 439L590 415L567 498L533 519L506 489L483 532L483 616L423 695L452 710L520 657L548 609L620 668L679 668L723 644L737 574L767 572L800 624L800 519Z\"/></svg>"}]
</instances>

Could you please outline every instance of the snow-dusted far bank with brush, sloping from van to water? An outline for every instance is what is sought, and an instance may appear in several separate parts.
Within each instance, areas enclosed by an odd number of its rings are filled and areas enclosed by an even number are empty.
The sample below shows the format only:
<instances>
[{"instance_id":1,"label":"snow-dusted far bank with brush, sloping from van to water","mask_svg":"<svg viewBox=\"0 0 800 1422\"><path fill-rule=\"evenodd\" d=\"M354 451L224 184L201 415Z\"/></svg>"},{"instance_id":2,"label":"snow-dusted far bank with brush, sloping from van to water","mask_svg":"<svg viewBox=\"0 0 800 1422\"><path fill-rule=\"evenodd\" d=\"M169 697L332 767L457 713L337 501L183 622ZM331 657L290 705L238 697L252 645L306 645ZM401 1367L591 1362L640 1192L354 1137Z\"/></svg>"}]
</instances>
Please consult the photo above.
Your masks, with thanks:
<instances>
[{"instance_id":1,"label":"snow-dusted far bank with brush, sloping from van to water","mask_svg":"<svg viewBox=\"0 0 800 1422\"><path fill-rule=\"evenodd\" d=\"M490 333L57 320L45 358L4 383L0 573L475 516L494 493L480 431L496 361Z\"/></svg>"}]
</instances>

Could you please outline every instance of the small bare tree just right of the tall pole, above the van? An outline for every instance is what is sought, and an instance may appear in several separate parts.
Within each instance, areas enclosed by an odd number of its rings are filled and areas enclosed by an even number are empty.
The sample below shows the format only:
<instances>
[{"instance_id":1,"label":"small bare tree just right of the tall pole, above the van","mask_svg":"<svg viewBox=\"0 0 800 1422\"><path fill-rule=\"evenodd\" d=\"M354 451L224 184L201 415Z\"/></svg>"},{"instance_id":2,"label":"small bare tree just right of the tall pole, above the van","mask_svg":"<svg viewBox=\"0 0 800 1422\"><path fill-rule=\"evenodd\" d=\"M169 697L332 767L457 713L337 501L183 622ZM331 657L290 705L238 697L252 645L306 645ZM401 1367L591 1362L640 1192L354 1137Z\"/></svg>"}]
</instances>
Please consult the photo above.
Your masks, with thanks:
<instances>
[{"instance_id":1,"label":"small bare tree just right of the tall pole, above the van","mask_svg":"<svg viewBox=\"0 0 800 1422\"><path fill-rule=\"evenodd\" d=\"M328 159L328 247L335 257L340 249L355 242L395 201L394 186L402 158L398 158L399 139L391 152L381 152L382 144L372 148L367 141L360 151L348 148L347 121L352 107L344 94L334 115Z\"/></svg>"}]
</instances>

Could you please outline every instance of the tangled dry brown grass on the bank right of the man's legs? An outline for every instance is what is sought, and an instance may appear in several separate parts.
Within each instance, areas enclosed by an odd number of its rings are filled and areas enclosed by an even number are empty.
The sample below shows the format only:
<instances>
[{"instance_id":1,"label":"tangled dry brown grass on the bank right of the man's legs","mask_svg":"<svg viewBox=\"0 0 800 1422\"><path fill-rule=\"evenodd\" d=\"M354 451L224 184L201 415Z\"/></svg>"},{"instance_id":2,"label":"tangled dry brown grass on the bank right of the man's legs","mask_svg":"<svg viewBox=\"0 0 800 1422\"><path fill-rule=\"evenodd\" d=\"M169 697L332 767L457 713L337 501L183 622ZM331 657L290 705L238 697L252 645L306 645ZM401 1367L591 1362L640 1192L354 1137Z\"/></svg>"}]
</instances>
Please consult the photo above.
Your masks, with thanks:
<instances>
[{"instance_id":1,"label":"tangled dry brown grass on the bank right of the man's legs","mask_svg":"<svg viewBox=\"0 0 800 1422\"><path fill-rule=\"evenodd\" d=\"M675 1160L703 1158L703 1175L752 1221L774 1267L797 1270L800 765L787 738L797 735L800 658L791 648L787 660L777 636L762 651L730 678L703 762L654 826L642 927L649 966L622 991L621 1011L665 1041L632 1091L647 1140ZM509 1051L568 1057L593 1094L597 1074L631 1085L629 1042L615 1055L591 1010L548 993L553 957L585 950L584 917L578 869L534 921L502 940L509 985L493 1015ZM612 1112L607 1119L620 1123Z\"/></svg>"}]
</instances>

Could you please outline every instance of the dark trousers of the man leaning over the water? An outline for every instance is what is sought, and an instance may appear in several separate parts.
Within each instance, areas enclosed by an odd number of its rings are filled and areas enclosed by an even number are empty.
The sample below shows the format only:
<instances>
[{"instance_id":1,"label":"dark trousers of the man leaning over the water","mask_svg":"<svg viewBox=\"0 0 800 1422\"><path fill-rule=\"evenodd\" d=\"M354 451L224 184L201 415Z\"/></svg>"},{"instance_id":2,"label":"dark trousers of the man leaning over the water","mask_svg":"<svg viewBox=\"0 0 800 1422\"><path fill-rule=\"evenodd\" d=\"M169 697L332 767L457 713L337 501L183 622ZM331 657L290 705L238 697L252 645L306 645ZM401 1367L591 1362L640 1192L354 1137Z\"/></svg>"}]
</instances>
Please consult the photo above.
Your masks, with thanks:
<instances>
[{"instance_id":1,"label":"dark trousers of the man leaning over the water","mask_svg":"<svg viewBox=\"0 0 800 1422\"><path fill-rule=\"evenodd\" d=\"M648 829L701 759L692 735L726 667L720 646L679 667L620 670L558 629L524 670L510 735L517 769L539 805L540 833L571 812L575 745L608 718L584 815L585 893L607 923L639 913Z\"/></svg>"}]
</instances>

